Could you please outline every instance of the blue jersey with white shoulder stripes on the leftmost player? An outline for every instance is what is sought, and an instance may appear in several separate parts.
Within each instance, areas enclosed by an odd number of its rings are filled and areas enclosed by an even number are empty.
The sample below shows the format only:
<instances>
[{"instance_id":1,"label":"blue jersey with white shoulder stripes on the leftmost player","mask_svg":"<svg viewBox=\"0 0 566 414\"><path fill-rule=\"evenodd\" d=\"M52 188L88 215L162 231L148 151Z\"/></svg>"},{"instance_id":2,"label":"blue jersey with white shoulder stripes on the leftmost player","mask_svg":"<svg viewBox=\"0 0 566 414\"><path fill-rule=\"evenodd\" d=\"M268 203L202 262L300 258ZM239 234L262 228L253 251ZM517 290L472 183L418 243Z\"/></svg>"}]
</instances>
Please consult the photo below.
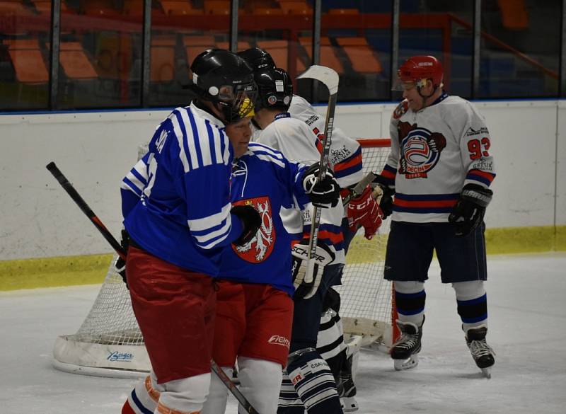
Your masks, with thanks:
<instances>
[{"instance_id":1,"label":"blue jersey with white shoulder stripes on the leftmost player","mask_svg":"<svg viewBox=\"0 0 566 414\"><path fill-rule=\"evenodd\" d=\"M194 104L173 110L122 181L132 239L169 263L216 276L221 248L242 232L230 214L232 159L219 120Z\"/></svg>"}]
</instances>

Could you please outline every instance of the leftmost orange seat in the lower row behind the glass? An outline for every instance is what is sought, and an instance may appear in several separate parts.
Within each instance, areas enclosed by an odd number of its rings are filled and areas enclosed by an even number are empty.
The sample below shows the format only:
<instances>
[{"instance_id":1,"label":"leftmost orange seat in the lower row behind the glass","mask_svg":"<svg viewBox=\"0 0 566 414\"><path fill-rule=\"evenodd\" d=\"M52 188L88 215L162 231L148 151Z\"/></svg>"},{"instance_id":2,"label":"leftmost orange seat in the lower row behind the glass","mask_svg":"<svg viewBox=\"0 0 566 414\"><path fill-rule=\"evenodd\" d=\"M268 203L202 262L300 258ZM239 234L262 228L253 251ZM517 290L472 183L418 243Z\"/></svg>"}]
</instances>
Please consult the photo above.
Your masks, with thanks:
<instances>
[{"instance_id":1,"label":"leftmost orange seat in the lower row behind the glass","mask_svg":"<svg viewBox=\"0 0 566 414\"><path fill-rule=\"evenodd\" d=\"M49 72L40 51L37 39L4 40L8 54L16 71L16 79L23 84L45 84Z\"/></svg>"}]
</instances>

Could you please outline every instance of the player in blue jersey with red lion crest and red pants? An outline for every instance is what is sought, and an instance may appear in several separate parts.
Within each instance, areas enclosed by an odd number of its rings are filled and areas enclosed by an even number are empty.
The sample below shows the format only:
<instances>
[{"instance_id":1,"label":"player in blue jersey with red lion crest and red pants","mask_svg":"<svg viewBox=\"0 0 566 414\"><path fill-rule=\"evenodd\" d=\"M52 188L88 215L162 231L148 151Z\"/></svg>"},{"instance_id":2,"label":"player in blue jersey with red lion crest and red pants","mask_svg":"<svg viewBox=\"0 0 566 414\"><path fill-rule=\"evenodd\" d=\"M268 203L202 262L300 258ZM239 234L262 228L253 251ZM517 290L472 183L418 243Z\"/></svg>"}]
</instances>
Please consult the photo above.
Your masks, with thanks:
<instances>
[{"instance_id":1,"label":"player in blue jersey with red lion crest and red pants","mask_svg":"<svg viewBox=\"0 0 566 414\"><path fill-rule=\"evenodd\" d=\"M338 185L329 177L307 194L304 182L311 181L317 167L307 168L287 161L279 151L250 144L249 119L227 125L226 134L234 151L232 204L253 206L262 220L248 243L222 252L213 358L230 372L238 357L241 391L260 413L275 414L291 335L291 241L302 234L301 208L310 201L337 205ZM138 169L147 170L144 161ZM158 391L151 381L148 377L138 384L125 407L134 413L152 412ZM224 413L226 399L226 386L212 376L201 413Z\"/></svg>"}]
</instances>

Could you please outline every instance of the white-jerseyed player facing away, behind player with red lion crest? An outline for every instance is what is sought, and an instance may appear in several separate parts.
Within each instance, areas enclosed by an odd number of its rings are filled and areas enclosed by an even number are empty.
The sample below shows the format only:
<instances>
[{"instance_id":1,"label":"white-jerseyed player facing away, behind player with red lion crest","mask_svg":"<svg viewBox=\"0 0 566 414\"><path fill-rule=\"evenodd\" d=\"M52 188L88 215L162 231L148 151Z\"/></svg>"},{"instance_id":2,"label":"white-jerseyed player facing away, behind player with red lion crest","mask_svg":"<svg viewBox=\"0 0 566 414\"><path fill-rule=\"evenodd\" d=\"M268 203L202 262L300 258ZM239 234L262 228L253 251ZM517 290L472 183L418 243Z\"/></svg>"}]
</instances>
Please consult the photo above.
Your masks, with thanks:
<instances>
[{"instance_id":1,"label":"white-jerseyed player facing away, behind player with red lion crest","mask_svg":"<svg viewBox=\"0 0 566 414\"><path fill-rule=\"evenodd\" d=\"M262 129L258 142L282 151L288 159L313 163L320 160L316 146L317 139L305 122L293 118L287 113L292 98L292 84L289 75L283 69L265 68L255 72L258 84L258 101L255 120ZM308 251L312 207L304 215L304 240L294 246L294 276L297 277L294 295L294 315L291 333L291 346L287 362L287 375L284 375L282 395L278 413L336 414L342 413L340 398L337 393L335 378L327 362L316 350L316 340L320 315L326 291L340 280L345 262L344 239L340 224L342 205L324 209L320 218L318 243L325 243L335 255L335 260L325 268L318 270L320 285L310 297L304 294L305 287L297 280L301 279L304 268L304 254ZM304 276L304 270L302 270ZM297 398L299 397L299 398Z\"/></svg>"}]
</instances>

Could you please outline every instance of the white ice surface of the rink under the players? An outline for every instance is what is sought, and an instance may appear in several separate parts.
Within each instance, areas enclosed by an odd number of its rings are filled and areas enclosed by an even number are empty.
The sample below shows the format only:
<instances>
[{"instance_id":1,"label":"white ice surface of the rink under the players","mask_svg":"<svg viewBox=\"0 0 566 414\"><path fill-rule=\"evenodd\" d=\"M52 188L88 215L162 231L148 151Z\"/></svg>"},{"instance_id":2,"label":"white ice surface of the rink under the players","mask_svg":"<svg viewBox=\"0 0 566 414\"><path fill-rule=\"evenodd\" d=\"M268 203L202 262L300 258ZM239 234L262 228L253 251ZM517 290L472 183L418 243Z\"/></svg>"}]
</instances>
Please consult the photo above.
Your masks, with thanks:
<instances>
[{"instance_id":1,"label":"white ice surface of the rink under the players","mask_svg":"<svg viewBox=\"0 0 566 414\"><path fill-rule=\"evenodd\" d=\"M359 414L565 414L566 255L490 256L487 341L497 352L485 379L466 347L454 290L433 263L420 364L395 372L381 352L362 351ZM59 372L57 335L75 333L98 286L0 292L0 413L120 413L132 379ZM226 413L236 413L231 401Z\"/></svg>"}]
</instances>

